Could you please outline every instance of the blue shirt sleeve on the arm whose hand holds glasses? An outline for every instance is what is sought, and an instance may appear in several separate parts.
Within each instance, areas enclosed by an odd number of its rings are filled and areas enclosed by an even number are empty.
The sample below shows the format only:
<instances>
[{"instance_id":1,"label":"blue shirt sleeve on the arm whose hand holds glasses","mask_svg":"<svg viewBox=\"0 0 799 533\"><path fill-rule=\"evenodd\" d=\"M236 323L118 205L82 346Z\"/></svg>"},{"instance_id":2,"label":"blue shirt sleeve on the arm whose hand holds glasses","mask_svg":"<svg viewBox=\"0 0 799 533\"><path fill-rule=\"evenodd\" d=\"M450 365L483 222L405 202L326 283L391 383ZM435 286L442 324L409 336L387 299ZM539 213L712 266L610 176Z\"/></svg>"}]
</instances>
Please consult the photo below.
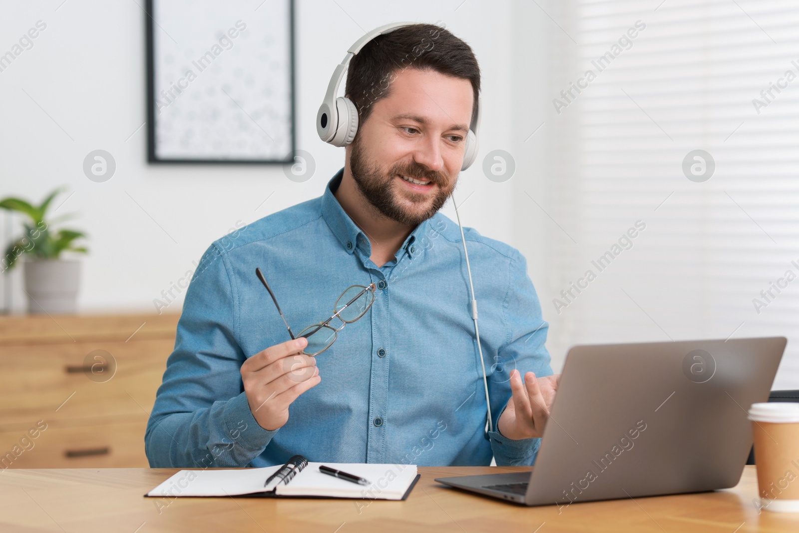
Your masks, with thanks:
<instances>
[{"instance_id":1,"label":"blue shirt sleeve on the arm whose hand holds glasses","mask_svg":"<svg viewBox=\"0 0 799 533\"><path fill-rule=\"evenodd\" d=\"M246 467L279 431L258 425L244 394L237 304L228 257L214 243L186 291L175 349L147 423L150 467Z\"/></svg>"}]
</instances>

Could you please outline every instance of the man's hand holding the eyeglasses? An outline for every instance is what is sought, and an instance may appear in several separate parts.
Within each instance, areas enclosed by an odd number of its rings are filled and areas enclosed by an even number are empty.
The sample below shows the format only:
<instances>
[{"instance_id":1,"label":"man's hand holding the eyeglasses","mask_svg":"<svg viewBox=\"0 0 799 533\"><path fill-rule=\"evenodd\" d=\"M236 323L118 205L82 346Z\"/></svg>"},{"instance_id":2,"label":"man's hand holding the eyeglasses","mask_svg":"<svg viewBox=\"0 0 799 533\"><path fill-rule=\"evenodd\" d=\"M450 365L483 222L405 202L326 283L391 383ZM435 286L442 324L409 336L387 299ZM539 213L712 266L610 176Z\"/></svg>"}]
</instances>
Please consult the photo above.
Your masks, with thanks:
<instances>
[{"instance_id":1,"label":"man's hand holding the eyeglasses","mask_svg":"<svg viewBox=\"0 0 799 533\"><path fill-rule=\"evenodd\" d=\"M252 416L261 428L274 431L288 422L288 406L300 394L319 384L316 358L302 349L300 337L256 353L241 365L241 380Z\"/></svg>"}]
</instances>

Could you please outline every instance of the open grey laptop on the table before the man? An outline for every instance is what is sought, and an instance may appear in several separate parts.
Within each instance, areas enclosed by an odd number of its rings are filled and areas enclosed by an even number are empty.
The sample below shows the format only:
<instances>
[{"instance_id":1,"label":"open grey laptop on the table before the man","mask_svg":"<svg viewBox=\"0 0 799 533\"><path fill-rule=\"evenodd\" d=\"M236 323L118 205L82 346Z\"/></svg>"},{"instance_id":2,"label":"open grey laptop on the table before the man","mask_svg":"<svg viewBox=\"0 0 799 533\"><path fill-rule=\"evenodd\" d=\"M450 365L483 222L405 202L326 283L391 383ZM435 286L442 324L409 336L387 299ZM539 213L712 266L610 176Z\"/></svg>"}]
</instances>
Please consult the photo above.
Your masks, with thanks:
<instances>
[{"instance_id":1,"label":"open grey laptop on the table before the man","mask_svg":"<svg viewBox=\"0 0 799 533\"><path fill-rule=\"evenodd\" d=\"M437 478L524 505L734 487L785 337L584 345L566 356L532 471Z\"/></svg>"}]
</instances>

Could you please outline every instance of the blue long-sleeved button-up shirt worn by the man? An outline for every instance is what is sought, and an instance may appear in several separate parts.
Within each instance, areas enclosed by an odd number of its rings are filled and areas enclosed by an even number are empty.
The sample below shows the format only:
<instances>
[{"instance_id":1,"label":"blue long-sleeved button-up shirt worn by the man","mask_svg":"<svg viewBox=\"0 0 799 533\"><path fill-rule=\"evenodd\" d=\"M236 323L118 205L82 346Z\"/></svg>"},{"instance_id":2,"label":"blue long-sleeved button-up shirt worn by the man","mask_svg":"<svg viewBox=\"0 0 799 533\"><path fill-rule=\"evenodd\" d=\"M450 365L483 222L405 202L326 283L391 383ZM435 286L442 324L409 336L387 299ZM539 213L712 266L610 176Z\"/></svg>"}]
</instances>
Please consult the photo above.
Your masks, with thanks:
<instances>
[{"instance_id":1,"label":"blue long-sleeved button-up shirt worn by the man","mask_svg":"<svg viewBox=\"0 0 799 533\"><path fill-rule=\"evenodd\" d=\"M368 238L333 196L294 205L213 242L186 291L175 349L147 424L151 467L264 467L291 455L339 463L529 465L539 439L484 432L485 392L458 225L437 213L378 268ZM510 372L552 373L547 323L527 263L464 229L494 424ZM261 428L240 367L289 340L255 275L259 267L293 332L326 320L352 284L379 287L372 308L316 357L320 384ZM383 281L383 284L380 284ZM496 428L495 428L496 429Z\"/></svg>"}]
</instances>

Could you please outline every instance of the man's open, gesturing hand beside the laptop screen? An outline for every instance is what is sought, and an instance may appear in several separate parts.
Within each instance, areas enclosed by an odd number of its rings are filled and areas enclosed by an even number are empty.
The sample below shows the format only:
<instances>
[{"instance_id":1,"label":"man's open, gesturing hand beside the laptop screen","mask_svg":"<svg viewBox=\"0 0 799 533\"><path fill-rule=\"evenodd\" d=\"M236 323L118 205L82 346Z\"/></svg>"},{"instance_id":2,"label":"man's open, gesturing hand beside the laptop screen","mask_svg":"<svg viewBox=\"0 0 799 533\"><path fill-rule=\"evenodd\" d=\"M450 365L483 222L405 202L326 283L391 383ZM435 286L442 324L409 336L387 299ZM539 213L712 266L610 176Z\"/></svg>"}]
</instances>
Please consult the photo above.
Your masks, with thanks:
<instances>
[{"instance_id":1,"label":"man's open, gesturing hand beside the laptop screen","mask_svg":"<svg viewBox=\"0 0 799 533\"><path fill-rule=\"evenodd\" d=\"M527 372L522 383L519 371L511 372L511 400L497 421L499 432L513 440L542 436L559 380L560 374L536 378Z\"/></svg>"}]
</instances>

